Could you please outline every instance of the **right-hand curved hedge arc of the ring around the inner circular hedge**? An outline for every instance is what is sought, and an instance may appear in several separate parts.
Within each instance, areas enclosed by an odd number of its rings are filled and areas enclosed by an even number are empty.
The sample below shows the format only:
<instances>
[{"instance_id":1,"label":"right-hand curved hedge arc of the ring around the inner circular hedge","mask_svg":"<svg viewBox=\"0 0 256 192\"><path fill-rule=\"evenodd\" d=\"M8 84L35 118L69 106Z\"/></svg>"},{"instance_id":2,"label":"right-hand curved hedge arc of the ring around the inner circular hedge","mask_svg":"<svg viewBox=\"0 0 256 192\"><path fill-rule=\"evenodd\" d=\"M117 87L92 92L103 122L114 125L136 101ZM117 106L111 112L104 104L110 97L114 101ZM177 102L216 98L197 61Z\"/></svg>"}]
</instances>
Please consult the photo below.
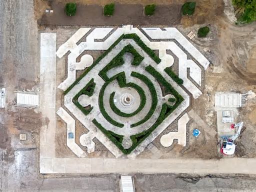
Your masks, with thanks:
<instances>
[{"instance_id":1,"label":"right-hand curved hedge arc of the ring around the inner circular hedge","mask_svg":"<svg viewBox=\"0 0 256 192\"><path fill-rule=\"evenodd\" d=\"M145 75L134 72L134 71L132 71L130 75L143 81L147 85L147 87L150 91L151 97L152 97L151 107L150 107L148 113L144 116L143 119L130 125L130 127L134 127L134 126L138 126L139 124L142 124L143 122L148 120L150 118L150 116L152 116L152 114L156 108L156 104L157 104L157 94L156 94L156 90L154 88L153 83Z\"/></svg>"}]
</instances>

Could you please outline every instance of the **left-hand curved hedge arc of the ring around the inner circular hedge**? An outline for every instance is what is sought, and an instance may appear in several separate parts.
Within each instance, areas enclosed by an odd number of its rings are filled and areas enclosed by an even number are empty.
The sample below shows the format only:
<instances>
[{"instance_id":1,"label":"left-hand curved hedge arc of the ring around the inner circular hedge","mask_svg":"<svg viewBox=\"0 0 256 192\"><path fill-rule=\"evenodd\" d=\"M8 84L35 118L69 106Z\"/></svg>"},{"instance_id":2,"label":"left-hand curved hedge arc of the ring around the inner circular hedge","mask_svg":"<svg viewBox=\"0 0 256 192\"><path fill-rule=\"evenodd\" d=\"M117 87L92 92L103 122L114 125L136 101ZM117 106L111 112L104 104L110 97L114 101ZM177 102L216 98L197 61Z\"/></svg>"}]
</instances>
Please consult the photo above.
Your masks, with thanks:
<instances>
[{"instance_id":1,"label":"left-hand curved hedge arc of the ring around the inner circular hedge","mask_svg":"<svg viewBox=\"0 0 256 192\"><path fill-rule=\"evenodd\" d=\"M104 105L103 105L104 90L105 90L106 86L107 86L113 79L117 78L118 75L125 75L125 74L124 74L124 72L120 72L120 73L118 73L118 74L112 76L108 81L106 81L106 82L102 85L102 87L101 87L101 89L100 89L100 91L99 91L99 95L98 95L98 106L99 106L99 110L100 110L101 114L104 116L104 118L105 118L108 122L110 122L111 124L113 124L113 125L115 125L115 126L123 127L124 124L115 121L114 119L112 119L112 118L108 115L108 113L105 111L105 108L104 108Z\"/></svg>"}]
</instances>

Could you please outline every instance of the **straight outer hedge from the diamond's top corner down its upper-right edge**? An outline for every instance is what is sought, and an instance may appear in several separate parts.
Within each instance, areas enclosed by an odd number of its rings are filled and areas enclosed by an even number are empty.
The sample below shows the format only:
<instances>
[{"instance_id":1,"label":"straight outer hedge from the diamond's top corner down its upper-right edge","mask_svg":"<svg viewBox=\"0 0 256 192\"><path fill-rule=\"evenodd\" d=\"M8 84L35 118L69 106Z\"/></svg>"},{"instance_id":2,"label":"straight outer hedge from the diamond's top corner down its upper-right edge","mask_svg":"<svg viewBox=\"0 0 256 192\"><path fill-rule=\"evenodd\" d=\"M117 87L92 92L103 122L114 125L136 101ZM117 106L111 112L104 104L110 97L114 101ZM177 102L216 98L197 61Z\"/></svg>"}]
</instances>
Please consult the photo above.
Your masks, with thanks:
<instances>
[{"instance_id":1,"label":"straight outer hedge from the diamond's top corner down its upper-right edge","mask_svg":"<svg viewBox=\"0 0 256 192\"><path fill-rule=\"evenodd\" d=\"M154 51L145 45L145 43L135 33L124 34L123 38L133 39L157 64L161 62L161 59L154 53Z\"/></svg>"}]
</instances>

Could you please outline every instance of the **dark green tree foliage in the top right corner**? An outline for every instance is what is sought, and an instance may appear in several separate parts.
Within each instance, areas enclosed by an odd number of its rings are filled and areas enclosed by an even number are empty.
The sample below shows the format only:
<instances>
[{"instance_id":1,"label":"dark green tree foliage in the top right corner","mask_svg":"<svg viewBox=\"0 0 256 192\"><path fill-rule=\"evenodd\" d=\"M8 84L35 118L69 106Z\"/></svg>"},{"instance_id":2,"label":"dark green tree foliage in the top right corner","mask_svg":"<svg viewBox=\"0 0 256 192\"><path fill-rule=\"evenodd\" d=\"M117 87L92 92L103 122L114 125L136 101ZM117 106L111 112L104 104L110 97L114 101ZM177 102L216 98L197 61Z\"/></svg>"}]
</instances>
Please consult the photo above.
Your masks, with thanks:
<instances>
[{"instance_id":1,"label":"dark green tree foliage in the top right corner","mask_svg":"<svg viewBox=\"0 0 256 192\"><path fill-rule=\"evenodd\" d=\"M244 11L238 15L238 23L250 23L256 20L256 0L232 0L235 9Z\"/></svg>"}]
</instances>

